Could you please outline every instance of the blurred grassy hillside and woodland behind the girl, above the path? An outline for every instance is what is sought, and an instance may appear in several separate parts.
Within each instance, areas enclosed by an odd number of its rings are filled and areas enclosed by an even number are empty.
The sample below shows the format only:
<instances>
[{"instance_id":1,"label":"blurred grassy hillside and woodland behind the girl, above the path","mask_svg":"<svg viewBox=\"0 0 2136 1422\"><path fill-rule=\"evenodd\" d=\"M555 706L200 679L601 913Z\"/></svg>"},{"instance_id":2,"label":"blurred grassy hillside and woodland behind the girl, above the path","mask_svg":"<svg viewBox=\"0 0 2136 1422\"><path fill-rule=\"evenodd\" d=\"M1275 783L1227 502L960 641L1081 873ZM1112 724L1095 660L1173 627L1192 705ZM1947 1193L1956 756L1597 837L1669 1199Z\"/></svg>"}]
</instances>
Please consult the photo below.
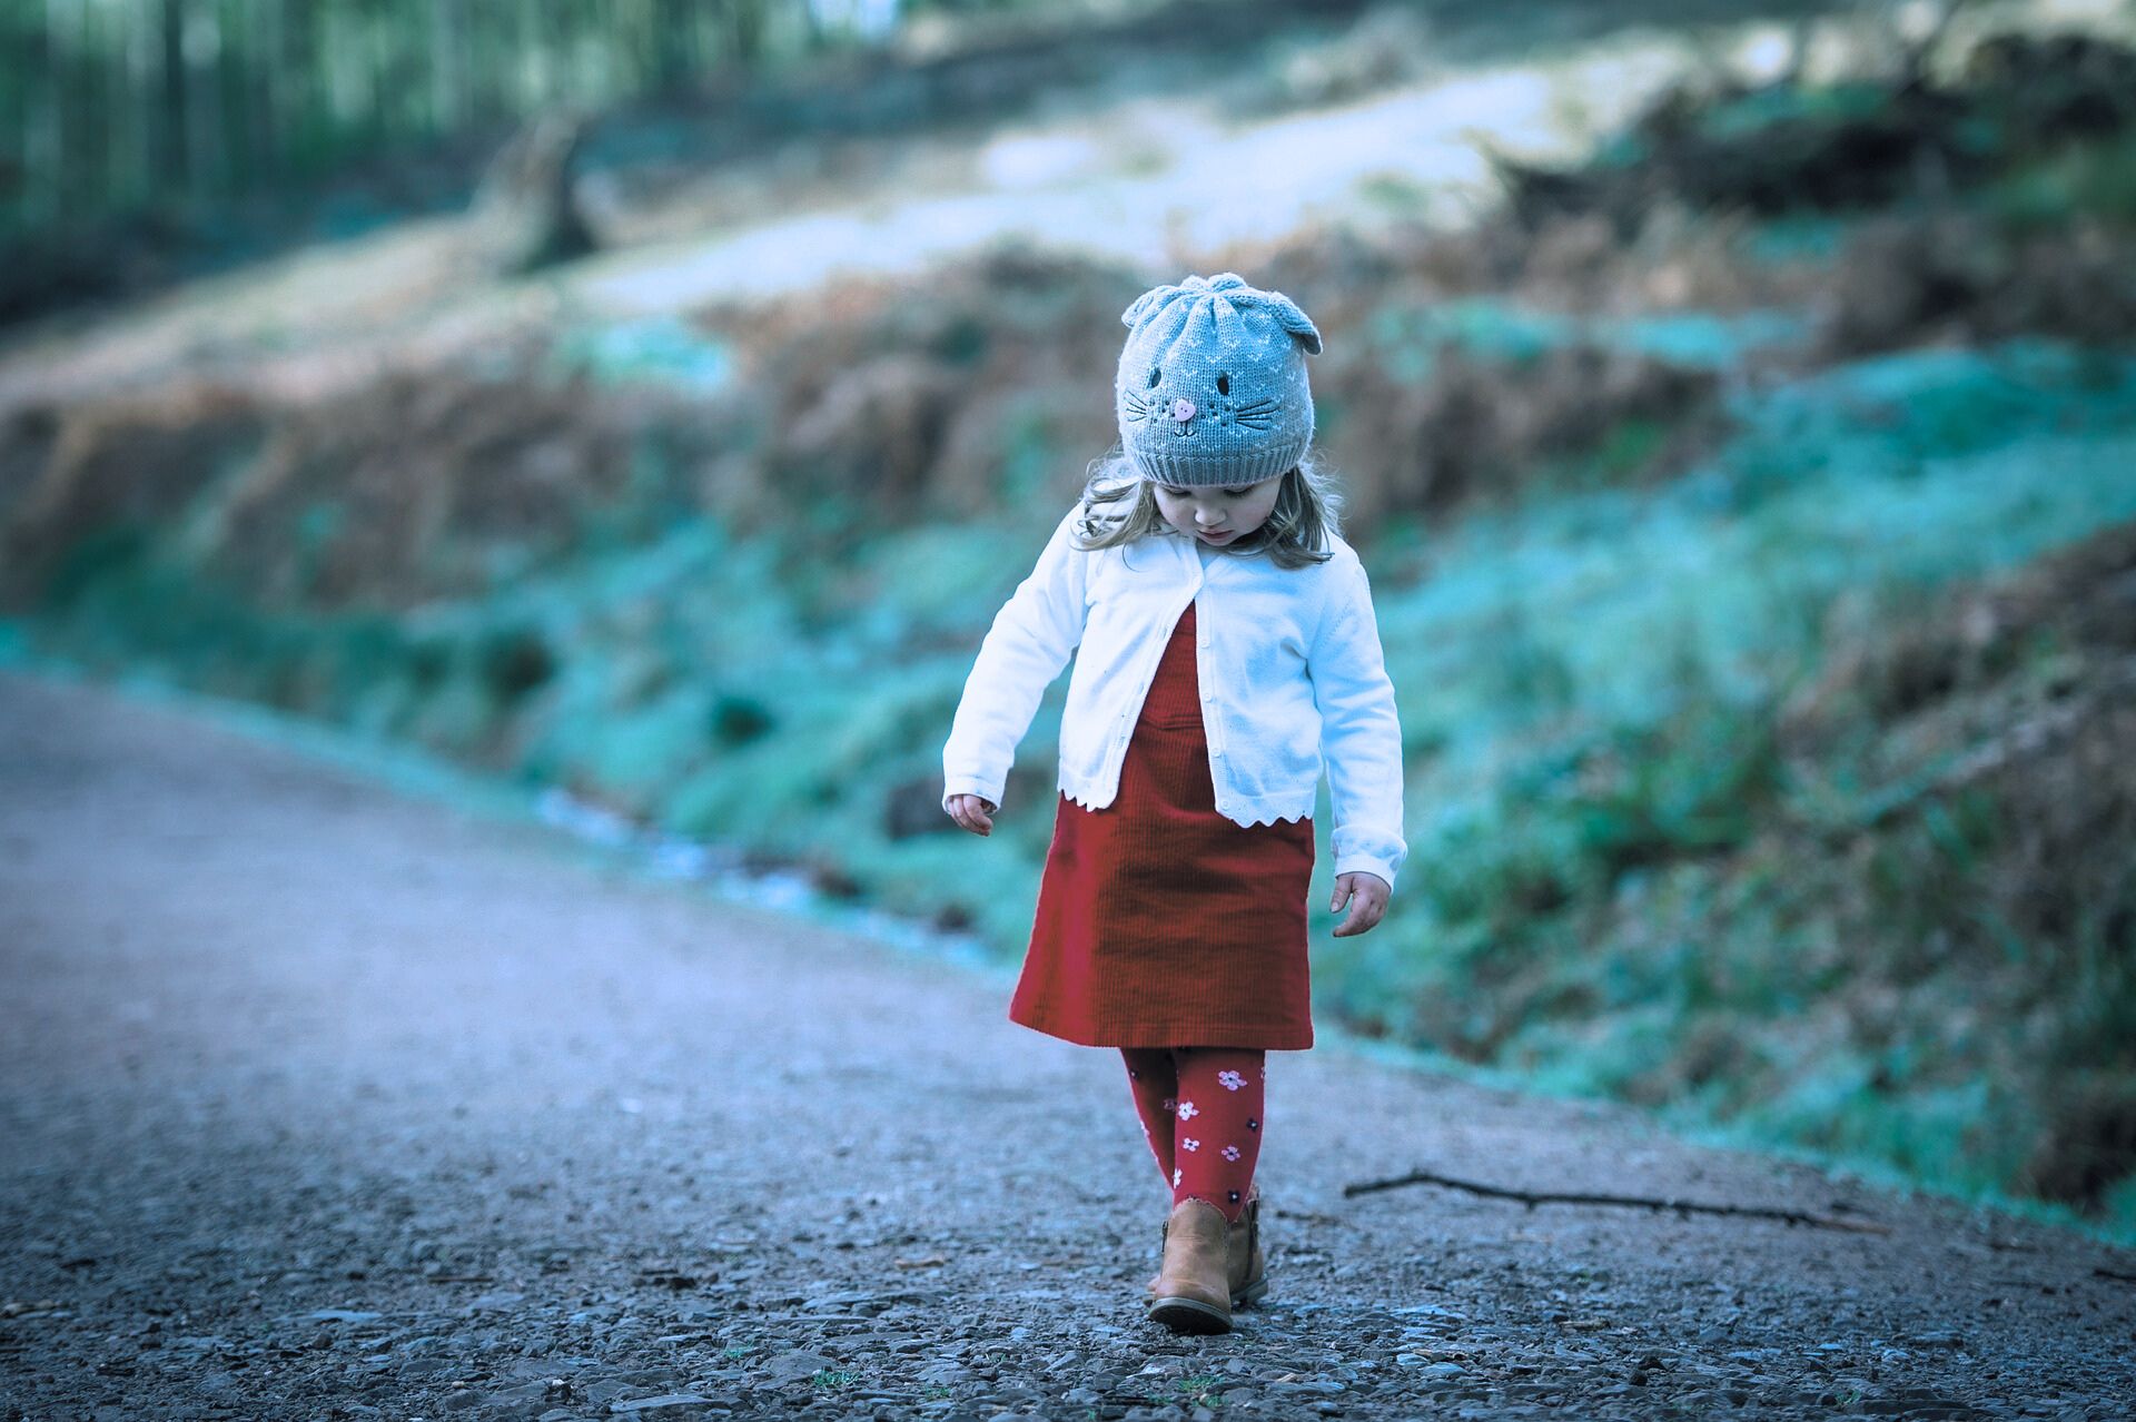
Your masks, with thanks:
<instances>
[{"instance_id":1,"label":"blurred grassy hillside and woodland behind the girl, above the path","mask_svg":"<svg viewBox=\"0 0 2136 1422\"><path fill-rule=\"evenodd\" d=\"M1326 335L1326 1025L2136 1236L2136 4L0 0L0 660L1015 961L1119 312ZM1318 816L1324 903L1329 811Z\"/></svg>"}]
</instances>

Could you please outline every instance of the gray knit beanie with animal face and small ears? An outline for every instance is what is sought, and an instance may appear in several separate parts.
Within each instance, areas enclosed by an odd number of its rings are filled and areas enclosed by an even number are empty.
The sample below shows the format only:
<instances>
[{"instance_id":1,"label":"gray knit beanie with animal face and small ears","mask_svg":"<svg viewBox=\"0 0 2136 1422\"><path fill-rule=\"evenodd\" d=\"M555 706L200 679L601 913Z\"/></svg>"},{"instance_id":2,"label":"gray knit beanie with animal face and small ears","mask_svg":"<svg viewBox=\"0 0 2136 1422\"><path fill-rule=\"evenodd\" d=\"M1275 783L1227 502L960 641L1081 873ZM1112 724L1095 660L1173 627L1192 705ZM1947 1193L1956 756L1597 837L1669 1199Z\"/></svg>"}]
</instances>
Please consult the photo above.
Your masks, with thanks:
<instances>
[{"instance_id":1,"label":"gray knit beanie with animal face and small ears","mask_svg":"<svg viewBox=\"0 0 2136 1422\"><path fill-rule=\"evenodd\" d=\"M1314 442L1305 357L1320 331L1297 301L1237 273L1145 290L1119 316L1119 444L1162 485L1254 485Z\"/></svg>"}]
</instances>

